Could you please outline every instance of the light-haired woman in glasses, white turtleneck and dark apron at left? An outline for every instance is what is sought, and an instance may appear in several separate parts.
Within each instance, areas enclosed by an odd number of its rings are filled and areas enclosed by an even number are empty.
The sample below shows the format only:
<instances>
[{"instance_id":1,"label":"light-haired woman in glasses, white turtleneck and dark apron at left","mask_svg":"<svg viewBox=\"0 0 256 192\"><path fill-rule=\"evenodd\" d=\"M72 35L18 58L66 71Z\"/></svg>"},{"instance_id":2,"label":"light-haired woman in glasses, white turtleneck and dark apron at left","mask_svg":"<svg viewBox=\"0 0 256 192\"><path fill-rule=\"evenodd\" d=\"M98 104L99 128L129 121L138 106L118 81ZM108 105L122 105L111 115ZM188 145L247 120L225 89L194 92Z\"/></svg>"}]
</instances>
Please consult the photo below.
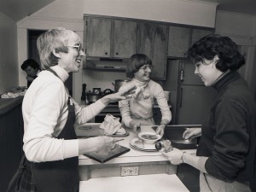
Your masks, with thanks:
<instances>
[{"instance_id":1,"label":"light-haired woman in glasses, white turtleneck and dark apron at left","mask_svg":"<svg viewBox=\"0 0 256 192\"><path fill-rule=\"evenodd\" d=\"M43 71L26 91L20 169L9 190L78 192L80 154L114 147L113 137L77 138L73 125L84 124L109 102L125 99L125 92L102 97L81 108L69 96L64 82L79 72L85 56L77 33L64 28L44 32L37 40Z\"/></svg>"}]
</instances>

